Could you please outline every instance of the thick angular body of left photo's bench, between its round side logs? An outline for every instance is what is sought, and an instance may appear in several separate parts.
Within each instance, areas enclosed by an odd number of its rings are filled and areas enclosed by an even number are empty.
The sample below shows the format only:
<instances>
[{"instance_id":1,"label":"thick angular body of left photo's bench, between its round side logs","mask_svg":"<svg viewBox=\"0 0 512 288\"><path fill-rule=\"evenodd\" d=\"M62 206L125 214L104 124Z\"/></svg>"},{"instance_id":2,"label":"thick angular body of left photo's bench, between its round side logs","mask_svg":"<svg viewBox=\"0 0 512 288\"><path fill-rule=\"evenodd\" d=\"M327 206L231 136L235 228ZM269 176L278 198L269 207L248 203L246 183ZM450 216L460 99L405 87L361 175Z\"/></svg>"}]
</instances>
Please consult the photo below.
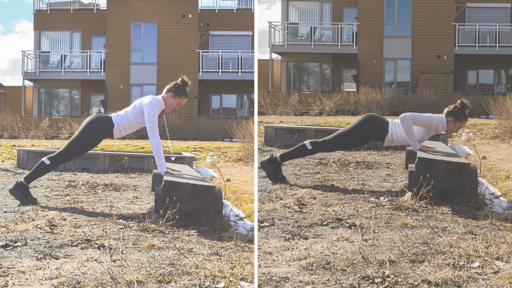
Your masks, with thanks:
<instances>
[{"instance_id":1,"label":"thick angular body of left photo's bench, between its round side logs","mask_svg":"<svg viewBox=\"0 0 512 288\"><path fill-rule=\"evenodd\" d=\"M167 163L167 166L181 170L183 174L165 174L163 177L162 193L167 197L170 209L187 211L211 205L216 188L214 184L186 165Z\"/></svg>"}]
</instances>

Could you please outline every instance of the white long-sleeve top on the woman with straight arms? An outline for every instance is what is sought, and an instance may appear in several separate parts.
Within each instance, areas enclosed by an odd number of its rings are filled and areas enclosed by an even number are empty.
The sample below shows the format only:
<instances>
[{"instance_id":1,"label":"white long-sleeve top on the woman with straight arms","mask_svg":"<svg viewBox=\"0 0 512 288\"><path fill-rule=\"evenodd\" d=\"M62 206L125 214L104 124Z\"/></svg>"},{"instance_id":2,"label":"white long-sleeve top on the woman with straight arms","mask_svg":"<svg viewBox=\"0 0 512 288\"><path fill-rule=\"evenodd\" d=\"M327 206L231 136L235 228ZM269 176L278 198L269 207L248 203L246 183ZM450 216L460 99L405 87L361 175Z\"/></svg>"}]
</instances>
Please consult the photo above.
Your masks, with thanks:
<instances>
[{"instance_id":1,"label":"white long-sleeve top on the woman with straight arms","mask_svg":"<svg viewBox=\"0 0 512 288\"><path fill-rule=\"evenodd\" d=\"M158 115L164 108L162 96L145 96L133 102L130 107L112 114L114 139L146 127L158 171L162 174L167 170L167 164L163 156L162 140L158 134Z\"/></svg>"}]
</instances>

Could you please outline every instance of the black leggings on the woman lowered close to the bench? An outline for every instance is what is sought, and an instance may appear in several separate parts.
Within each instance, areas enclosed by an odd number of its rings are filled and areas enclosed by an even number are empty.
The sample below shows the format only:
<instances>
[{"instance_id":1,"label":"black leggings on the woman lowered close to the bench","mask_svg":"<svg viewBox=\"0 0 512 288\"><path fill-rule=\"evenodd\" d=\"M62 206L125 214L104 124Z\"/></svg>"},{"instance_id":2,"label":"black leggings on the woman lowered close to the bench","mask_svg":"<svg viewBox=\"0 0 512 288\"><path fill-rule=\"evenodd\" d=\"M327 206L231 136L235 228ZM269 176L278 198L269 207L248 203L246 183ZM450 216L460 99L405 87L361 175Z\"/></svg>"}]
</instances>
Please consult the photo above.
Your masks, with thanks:
<instances>
[{"instance_id":1,"label":"black leggings on the woman lowered close to the bench","mask_svg":"<svg viewBox=\"0 0 512 288\"><path fill-rule=\"evenodd\" d=\"M308 140L286 150L279 154L279 160L286 162L316 153L355 149L371 141L384 142L388 129L389 121L386 118L372 113L365 114L330 136Z\"/></svg>"}]
</instances>

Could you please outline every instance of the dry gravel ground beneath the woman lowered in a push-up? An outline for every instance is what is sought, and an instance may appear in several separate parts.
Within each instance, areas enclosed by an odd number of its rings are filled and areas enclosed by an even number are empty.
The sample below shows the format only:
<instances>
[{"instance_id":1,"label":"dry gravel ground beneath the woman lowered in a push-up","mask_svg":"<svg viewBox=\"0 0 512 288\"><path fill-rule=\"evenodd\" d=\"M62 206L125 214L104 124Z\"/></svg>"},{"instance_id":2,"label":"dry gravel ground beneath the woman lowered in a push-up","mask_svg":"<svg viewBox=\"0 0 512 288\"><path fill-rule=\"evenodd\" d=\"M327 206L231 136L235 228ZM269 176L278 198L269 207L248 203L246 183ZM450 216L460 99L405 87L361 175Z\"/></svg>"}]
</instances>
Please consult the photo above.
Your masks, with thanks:
<instances>
[{"instance_id":1,"label":"dry gravel ground beneath the woman lowered in a push-up","mask_svg":"<svg viewBox=\"0 0 512 288\"><path fill-rule=\"evenodd\" d=\"M282 184L259 167L258 286L511 287L510 218L415 200L404 158L317 154L284 163Z\"/></svg>"}]
</instances>

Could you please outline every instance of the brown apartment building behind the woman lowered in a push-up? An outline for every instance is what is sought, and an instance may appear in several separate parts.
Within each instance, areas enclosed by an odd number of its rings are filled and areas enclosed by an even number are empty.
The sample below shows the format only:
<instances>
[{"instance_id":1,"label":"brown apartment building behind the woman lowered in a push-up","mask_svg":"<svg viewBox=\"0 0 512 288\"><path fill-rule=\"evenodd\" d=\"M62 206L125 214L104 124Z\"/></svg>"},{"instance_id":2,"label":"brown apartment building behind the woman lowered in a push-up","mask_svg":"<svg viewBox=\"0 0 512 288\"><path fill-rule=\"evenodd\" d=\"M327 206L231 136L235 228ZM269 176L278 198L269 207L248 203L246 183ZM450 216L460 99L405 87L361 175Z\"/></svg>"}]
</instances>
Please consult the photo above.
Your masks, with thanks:
<instances>
[{"instance_id":1,"label":"brown apartment building behind the woman lowered in a push-up","mask_svg":"<svg viewBox=\"0 0 512 288\"><path fill-rule=\"evenodd\" d=\"M406 94L400 109L411 111L407 95L422 88L434 92L435 112L458 97L512 92L512 1L482 2L282 0L268 30L280 90L383 88Z\"/></svg>"}]
</instances>

